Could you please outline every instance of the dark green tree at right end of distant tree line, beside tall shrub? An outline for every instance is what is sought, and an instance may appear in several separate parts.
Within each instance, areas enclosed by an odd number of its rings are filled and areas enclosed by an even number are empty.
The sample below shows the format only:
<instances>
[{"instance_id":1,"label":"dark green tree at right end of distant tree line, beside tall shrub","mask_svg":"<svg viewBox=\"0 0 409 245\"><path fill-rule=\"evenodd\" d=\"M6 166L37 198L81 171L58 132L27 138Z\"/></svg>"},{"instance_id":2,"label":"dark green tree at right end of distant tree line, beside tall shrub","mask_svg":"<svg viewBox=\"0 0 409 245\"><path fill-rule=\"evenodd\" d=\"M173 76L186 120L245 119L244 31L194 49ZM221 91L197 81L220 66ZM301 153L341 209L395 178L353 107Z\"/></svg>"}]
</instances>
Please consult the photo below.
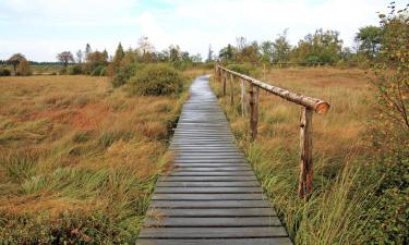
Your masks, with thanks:
<instances>
[{"instance_id":1,"label":"dark green tree at right end of distant tree line, beside tall shrub","mask_svg":"<svg viewBox=\"0 0 409 245\"><path fill-rule=\"evenodd\" d=\"M369 25L359 28L354 40L358 44L358 50L374 58L380 51L382 29L378 26Z\"/></svg>"}]
</instances>

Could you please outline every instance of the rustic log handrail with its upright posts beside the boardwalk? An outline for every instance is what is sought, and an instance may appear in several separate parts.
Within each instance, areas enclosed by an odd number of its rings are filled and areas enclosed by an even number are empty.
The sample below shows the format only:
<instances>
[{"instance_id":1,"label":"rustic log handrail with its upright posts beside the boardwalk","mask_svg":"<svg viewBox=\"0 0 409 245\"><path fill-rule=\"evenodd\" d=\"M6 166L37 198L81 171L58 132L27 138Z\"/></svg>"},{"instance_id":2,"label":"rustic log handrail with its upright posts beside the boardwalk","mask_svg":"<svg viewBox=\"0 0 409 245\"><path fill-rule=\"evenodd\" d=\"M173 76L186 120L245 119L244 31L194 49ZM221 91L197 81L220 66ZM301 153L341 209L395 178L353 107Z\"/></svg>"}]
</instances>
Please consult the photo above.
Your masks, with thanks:
<instances>
[{"instance_id":1,"label":"rustic log handrail with its upright posts beside the boardwalk","mask_svg":"<svg viewBox=\"0 0 409 245\"><path fill-rule=\"evenodd\" d=\"M312 114L315 111L318 114L325 114L329 110L329 103L300 95L297 93L289 91L287 89L276 87L258 79L250 77L248 75L228 70L218 64L215 65L215 74L222 82L222 95L226 96L226 86L228 75L230 76L230 103L233 106L233 79L234 77L241 81L241 114L246 114L246 99L245 99L245 86L244 82L250 84L250 128L251 138L254 140L257 136L257 124L258 124L258 94L260 88L266 90L273 95L279 96L288 101L298 103L301 106L300 117L300 176L298 195L299 197L305 197L312 191L312 175L313 175L313 159L312 159Z\"/></svg>"}]
</instances>

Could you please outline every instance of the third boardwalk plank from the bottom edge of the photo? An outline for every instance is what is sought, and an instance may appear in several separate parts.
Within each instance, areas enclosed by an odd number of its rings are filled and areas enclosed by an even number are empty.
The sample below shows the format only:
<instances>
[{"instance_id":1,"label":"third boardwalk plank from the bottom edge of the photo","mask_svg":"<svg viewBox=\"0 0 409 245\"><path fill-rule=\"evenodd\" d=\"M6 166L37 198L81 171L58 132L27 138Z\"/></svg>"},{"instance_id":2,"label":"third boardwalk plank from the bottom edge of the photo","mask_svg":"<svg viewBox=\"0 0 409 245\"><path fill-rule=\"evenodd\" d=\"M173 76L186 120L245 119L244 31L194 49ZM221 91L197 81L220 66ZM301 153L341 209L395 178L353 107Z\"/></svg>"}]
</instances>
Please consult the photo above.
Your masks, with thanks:
<instances>
[{"instance_id":1,"label":"third boardwalk plank from the bottom edge of the photo","mask_svg":"<svg viewBox=\"0 0 409 245\"><path fill-rule=\"evenodd\" d=\"M237 226L279 226L277 217L232 217L232 218L147 218L145 226L167 228L237 228Z\"/></svg>"}]
</instances>

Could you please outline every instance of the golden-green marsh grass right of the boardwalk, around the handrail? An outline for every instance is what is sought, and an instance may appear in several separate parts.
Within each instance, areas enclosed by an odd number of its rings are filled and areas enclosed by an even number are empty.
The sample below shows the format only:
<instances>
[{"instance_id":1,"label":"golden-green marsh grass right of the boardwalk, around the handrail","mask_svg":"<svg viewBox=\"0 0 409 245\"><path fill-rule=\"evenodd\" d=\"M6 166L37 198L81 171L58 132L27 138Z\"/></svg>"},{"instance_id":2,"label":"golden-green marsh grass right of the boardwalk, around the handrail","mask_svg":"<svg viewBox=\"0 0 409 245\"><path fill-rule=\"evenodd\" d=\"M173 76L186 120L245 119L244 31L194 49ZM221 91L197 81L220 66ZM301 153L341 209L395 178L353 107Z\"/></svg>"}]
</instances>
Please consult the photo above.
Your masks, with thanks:
<instances>
[{"instance_id":1,"label":"golden-green marsh grass right of the boardwalk, around the handrail","mask_svg":"<svg viewBox=\"0 0 409 245\"><path fill-rule=\"evenodd\" d=\"M237 103L221 97L221 85L212 86L224 106L238 144L244 150L273 206L296 244L360 244L363 210L381 180L370 179L371 151L364 140L370 112L368 77L362 70L270 70L263 81L321 98L332 105L326 115L313 117L314 191L297 197L299 175L299 106L261 90L258 136L250 142L249 118L241 118L240 85ZM229 88L228 88L229 91ZM374 204L376 205L376 204Z\"/></svg>"}]
</instances>

